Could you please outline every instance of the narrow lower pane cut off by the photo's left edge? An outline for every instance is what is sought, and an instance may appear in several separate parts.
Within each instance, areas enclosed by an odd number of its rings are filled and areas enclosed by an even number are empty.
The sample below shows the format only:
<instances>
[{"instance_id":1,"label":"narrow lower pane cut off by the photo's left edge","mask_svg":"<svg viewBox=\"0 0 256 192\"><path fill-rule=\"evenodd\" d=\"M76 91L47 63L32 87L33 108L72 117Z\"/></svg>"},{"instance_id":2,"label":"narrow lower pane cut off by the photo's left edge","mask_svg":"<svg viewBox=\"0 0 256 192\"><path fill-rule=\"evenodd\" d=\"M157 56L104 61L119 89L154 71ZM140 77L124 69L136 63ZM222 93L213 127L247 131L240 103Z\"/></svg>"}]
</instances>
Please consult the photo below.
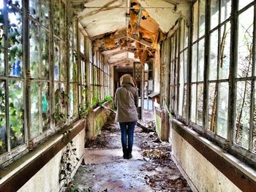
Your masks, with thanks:
<instances>
[{"instance_id":1,"label":"narrow lower pane cut off by the photo's left edge","mask_svg":"<svg viewBox=\"0 0 256 192\"><path fill-rule=\"evenodd\" d=\"M0 81L0 155L7 152L7 126L4 81Z\"/></svg>"}]
</instances>

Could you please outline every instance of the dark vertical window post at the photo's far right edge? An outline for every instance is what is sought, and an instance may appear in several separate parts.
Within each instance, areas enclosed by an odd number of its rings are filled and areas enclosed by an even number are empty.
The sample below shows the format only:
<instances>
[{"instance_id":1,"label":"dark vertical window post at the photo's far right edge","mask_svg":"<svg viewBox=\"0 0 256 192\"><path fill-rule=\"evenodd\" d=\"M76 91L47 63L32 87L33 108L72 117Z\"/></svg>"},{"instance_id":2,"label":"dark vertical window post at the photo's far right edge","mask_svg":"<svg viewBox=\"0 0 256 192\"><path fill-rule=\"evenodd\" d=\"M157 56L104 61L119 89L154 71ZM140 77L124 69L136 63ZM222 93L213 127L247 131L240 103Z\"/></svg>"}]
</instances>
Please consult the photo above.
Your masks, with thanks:
<instances>
[{"instance_id":1,"label":"dark vertical window post at the photo's far right edge","mask_svg":"<svg viewBox=\"0 0 256 192\"><path fill-rule=\"evenodd\" d=\"M254 20L253 20L253 45L252 45L252 76L255 76L255 39L256 39L256 4L254 4ZM251 106L250 106L250 122L249 122L249 151L252 152L253 146L253 129L254 129L254 113L255 113L255 79L252 79Z\"/></svg>"}]
</instances>

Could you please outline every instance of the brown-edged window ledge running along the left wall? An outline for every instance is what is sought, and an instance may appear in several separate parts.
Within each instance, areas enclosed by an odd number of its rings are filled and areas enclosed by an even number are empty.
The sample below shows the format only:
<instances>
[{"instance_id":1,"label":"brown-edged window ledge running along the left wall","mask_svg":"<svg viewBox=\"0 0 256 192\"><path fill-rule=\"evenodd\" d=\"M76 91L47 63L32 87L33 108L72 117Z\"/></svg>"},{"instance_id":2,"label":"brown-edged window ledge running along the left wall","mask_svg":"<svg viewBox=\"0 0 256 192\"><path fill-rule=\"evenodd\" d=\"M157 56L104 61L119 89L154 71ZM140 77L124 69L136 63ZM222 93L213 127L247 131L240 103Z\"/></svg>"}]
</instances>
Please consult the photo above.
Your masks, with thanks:
<instances>
[{"instance_id":1,"label":"brown-edged window ledge running along the left wall","mask_svg":"<svg viewBox=\"0 0 256 192\"><path fill-rule=\"evenodd\" d=\"M0 191L18 191L84 128L85 120L75 121L1 170Z\"/></svg>"}]
</instances>

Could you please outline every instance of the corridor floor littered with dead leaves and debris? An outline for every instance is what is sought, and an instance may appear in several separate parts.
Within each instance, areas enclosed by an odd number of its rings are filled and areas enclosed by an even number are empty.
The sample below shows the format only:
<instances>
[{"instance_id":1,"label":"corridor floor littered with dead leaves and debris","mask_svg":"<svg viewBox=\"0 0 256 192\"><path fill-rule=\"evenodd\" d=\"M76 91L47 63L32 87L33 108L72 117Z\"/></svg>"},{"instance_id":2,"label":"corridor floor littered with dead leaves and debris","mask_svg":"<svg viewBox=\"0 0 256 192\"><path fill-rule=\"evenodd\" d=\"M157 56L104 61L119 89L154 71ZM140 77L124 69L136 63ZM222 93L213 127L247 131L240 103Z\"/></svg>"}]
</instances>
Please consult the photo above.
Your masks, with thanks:
<instances>
[{"instance_id":1,"label":"corridor floor littered with dead leaves and debris","mask_svg":"<svg viewBox=\"0 0 256 192\"><path fill-rule=\"evenodd\" d=\"M72 191L191 191L170 158L170 144L155 132L135 128L133 158L124 160L121 135L112 115L94 142L86 144L84 164Z\"/></svg>"}]
</instances>

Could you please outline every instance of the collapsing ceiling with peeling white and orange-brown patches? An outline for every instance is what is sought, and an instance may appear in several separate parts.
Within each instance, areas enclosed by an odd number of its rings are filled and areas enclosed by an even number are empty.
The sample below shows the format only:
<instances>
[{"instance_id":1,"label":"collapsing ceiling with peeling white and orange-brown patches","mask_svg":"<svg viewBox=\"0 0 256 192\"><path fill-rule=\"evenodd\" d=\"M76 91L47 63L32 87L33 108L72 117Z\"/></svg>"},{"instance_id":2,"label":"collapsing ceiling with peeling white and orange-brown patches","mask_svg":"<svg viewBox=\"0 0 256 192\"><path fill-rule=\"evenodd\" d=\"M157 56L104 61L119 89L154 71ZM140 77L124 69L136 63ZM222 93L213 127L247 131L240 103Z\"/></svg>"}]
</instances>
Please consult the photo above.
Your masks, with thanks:
<instances>
[{"instance_id":1,"label":"collapsing ceiling with peeling white and orange-brown patches","mask_svg":"<svg viewBox=\"0 0 256 192\"><path fill-rule=\"evenodd\" d=\"M115 66L152 58L157 44L189 11L189 0L71 0L71 4L94 51Z\"/></svg>"}]
</instances>

